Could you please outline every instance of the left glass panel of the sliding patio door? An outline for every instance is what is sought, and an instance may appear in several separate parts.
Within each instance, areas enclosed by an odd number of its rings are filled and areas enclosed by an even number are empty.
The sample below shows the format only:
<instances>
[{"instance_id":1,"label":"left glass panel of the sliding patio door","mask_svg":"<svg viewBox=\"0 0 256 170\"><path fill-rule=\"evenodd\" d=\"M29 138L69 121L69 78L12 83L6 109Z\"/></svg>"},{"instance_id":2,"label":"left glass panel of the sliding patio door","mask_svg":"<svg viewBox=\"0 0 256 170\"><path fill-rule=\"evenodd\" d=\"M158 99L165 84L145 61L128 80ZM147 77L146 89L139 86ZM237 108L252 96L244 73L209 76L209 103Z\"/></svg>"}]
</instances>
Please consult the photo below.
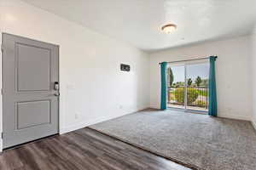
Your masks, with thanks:
<instances>
[{"instance_id":1,"label":"left glass panel of the sliding patio door","mask_svg":"<svg viewBox=\"0 0 256 170\"><path fill-rule=\"evenodd\" d=\"M167 66L167 106L184 109L184 65Z\"/></svg>"}]
</instances>

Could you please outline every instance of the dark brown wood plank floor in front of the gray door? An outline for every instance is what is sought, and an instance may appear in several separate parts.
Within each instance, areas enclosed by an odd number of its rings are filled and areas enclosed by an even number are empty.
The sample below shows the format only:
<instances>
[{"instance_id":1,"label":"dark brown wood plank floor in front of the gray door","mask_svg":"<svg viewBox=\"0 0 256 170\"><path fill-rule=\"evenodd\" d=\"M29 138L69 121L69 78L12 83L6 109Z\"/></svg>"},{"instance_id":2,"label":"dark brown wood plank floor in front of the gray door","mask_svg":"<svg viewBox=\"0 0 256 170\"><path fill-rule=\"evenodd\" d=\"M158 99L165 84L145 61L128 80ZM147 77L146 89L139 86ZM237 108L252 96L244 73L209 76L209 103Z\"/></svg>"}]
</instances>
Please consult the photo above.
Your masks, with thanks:
<instances>
[{"instance_id":1,"label":"dark brown wood plank floor in front of the gray door","mask_svg":"<svg viewBox=\"0 0 256 170\"><path fill-rule=\"evenodd\" d=\"M1 170L189 169L90 128L4 150Z\"/></svg>"}]
</instances>

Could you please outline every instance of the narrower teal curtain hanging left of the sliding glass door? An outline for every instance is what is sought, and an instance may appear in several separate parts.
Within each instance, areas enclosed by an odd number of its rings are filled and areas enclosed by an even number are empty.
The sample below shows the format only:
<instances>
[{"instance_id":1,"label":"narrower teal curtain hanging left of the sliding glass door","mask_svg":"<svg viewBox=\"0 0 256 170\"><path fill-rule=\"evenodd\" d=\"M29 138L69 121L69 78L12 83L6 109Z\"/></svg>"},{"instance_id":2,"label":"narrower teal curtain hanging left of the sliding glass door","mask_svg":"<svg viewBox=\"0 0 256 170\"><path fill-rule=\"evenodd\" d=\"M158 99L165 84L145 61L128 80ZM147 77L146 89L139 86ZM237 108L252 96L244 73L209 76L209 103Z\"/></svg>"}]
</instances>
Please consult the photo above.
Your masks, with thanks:
<instances>
[{"instance_id":1,"label":"narrower teal curtain hanging left of the sliding glass door","mask_svg":"<svg viewBox=\"0 0 256 170\"><path fill-rule=\"evenodd\" d=\"M166 110L166 62L160 63L161 66L161 101L160 101L160 109Z\"/></svg>"}]
</instances>

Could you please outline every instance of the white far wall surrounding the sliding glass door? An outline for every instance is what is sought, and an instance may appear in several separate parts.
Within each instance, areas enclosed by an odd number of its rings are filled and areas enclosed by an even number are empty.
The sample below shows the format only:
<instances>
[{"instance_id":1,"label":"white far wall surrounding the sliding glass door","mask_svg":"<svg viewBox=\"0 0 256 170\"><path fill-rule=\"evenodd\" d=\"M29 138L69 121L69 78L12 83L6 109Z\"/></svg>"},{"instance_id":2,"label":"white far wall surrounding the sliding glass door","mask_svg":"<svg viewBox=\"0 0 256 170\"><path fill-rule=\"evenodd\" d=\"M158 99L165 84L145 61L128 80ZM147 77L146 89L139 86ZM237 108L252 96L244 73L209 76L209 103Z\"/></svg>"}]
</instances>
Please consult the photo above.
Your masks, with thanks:
<instances>
[{"instance_id":1,"label":"white far wall surrounding the sliding glass door","mask_svg":"<svg viewBox=\"0 0 256 170\"><path fill-rule=\"evenodd\" d=\"M161 61L217 55L218 116L250 120L252 116L250 37L173 48L150 55L150 105L160 107Z\"/></svg>"}]
</instances>

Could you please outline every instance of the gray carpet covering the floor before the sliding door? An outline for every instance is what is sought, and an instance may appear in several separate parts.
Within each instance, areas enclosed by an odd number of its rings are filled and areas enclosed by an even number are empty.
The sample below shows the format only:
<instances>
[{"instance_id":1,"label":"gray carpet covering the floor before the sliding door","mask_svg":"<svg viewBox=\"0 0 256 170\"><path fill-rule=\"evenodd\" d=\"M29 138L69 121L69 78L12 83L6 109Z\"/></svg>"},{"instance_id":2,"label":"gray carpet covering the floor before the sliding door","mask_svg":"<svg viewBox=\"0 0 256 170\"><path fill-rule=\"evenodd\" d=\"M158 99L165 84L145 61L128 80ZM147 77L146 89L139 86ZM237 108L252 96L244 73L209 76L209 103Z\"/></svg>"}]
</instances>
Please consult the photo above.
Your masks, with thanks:
<instances>
[{"instance_id":1,"label":"gray carpet covering the floor before the sliding door","mask_svg":"<svg viewBox=\"0 0 256 170\"><path fill-rule=\"evenodd\" d=\"M194 169L256 169L250 122L168 110L141 111L90 127Z\"/></svg>"}]
</instances>

